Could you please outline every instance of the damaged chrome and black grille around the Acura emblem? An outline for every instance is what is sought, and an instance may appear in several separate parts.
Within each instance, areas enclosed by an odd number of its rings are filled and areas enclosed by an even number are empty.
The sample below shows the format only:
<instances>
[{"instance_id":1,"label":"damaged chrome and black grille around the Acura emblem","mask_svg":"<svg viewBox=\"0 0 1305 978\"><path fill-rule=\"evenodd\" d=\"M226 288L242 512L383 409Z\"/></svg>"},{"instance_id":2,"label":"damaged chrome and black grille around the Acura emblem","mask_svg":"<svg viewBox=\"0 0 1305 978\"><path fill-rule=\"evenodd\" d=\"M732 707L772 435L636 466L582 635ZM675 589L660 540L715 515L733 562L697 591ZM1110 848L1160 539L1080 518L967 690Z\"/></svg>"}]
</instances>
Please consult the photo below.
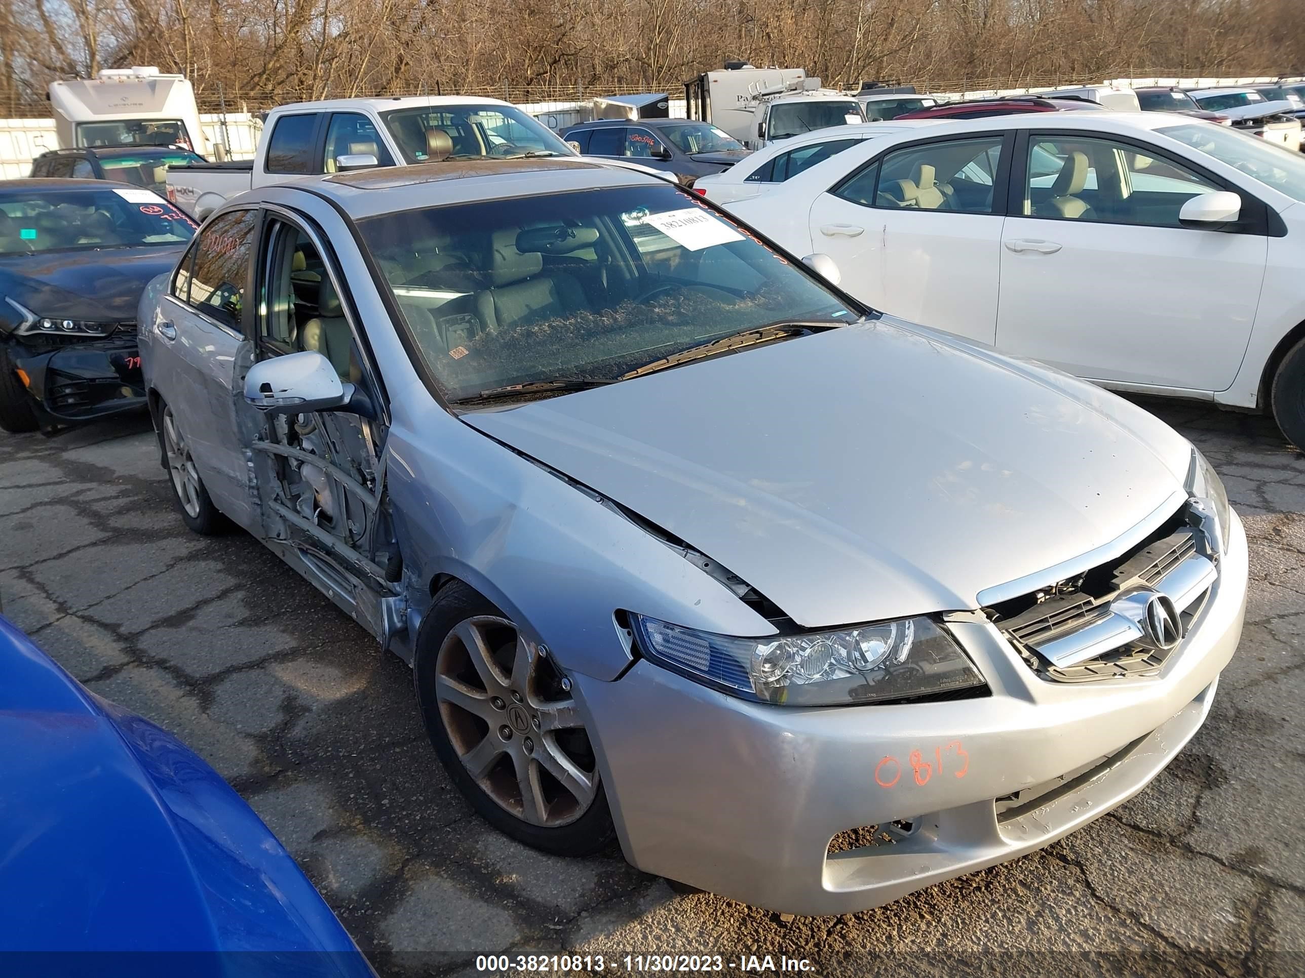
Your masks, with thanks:
<instances>
[{"instance_id":1,"label":"damaged chrome and black grille around the Acura emblem","mask_svg":"<svg viewBox=\"0 0 1305 978\"><path fill-rule=\"evenodd\" d=\"M1114 561L984 610L1045 679L1155 675L1182 643L1158 648L1133 610L1138 600L1172 600L1186 635L1218 578L1201 531L1186 516L1186 509L1174 514Z\"/></svg>"}]
</instances>

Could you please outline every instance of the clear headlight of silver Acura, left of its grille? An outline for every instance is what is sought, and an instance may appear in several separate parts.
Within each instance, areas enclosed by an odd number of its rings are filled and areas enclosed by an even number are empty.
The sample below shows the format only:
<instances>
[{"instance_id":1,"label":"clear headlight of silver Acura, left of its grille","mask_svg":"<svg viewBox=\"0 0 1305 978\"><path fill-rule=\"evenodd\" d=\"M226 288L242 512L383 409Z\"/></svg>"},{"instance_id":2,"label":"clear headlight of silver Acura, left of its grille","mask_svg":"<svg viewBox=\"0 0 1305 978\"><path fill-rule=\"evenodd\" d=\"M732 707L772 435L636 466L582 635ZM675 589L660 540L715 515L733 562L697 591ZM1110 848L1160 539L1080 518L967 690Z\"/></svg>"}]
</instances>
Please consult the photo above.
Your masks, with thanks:
<instances>
[{"instance_id":1,"label":"clear headlight of silver Acura, left of its grille","mask_svg":"<svg viewBox=\"0 0 1305 978\"><path fill-rule=\"evenodd\" d=\"M850 705L984 685L966 653L929 618L758 639L630 618L639 651L654 662L762 703Z\"/></svg>"}]
</instances>

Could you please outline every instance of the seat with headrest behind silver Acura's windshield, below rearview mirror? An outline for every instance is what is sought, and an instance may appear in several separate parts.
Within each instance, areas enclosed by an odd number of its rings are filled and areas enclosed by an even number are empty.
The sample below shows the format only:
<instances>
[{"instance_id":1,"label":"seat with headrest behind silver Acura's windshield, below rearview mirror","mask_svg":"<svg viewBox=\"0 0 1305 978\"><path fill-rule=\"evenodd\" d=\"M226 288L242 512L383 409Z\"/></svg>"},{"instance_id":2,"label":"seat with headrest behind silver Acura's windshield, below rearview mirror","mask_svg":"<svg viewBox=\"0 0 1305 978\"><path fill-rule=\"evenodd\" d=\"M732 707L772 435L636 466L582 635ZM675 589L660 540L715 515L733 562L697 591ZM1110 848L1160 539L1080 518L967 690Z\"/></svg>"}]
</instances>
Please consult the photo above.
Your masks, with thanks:
<instances>
[{"instance_id":1,"label":"seat with headrest behind silver Acura's windshield, below rearview mirror","mask_svg":"<svg viewBox=\"0 0 1305 978\"><path fill-rule=\"evenodd\" d=\"M517 231L495 231L491 241L491 287L476 295L476 316L487 330L527 326L590 309L574 275L543 275L540 252L517 250Z\"/></svg>"}]
</instances>

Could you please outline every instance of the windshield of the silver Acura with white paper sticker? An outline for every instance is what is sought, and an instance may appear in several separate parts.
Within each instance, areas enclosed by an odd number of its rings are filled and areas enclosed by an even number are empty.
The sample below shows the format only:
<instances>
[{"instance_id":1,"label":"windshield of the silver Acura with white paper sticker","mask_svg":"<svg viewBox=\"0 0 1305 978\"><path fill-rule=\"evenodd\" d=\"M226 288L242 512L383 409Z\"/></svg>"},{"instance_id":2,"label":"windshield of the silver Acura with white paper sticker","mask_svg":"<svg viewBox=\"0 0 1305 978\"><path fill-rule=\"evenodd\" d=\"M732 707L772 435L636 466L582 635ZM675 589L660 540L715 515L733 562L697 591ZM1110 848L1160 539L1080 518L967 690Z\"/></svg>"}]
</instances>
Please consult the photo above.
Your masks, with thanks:
<instances>
[{"instance_id":1,"label":"windshield of the silver Acura with white paper sticker","mask_svg":"<svg viewBox=\"0 0 1305 978\"><path fill-rule=\"evenodd\" d=\"M612 381L741 330L857 318L673 186L399 211L359 230L449 400Z\"/></svg>"}]
</instances>

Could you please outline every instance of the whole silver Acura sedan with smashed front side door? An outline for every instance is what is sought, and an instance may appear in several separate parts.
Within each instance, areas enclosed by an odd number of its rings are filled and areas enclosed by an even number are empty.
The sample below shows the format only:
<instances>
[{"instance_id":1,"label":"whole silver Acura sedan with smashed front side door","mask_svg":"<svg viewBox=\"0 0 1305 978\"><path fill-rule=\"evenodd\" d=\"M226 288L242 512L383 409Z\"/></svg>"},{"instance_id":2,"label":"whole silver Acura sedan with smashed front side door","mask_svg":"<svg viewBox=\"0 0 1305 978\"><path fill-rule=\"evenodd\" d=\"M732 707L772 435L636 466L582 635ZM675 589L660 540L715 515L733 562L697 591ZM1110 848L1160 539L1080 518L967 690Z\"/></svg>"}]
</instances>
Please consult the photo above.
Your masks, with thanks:
<instances>
[{"instance_id":1,"label":"whole silver Acura sedan with smashed front side door","mask_svg":"<svg viewBox=\"0 0 1305 978\"><path fill-rule=\"evenodd\" d=\"M264 188L142 300L162 462L412 665L501 831L876 906L1168 764L1246 541L1144 411L821 270L582 160Z\"/></svg>"}]
</instances>

